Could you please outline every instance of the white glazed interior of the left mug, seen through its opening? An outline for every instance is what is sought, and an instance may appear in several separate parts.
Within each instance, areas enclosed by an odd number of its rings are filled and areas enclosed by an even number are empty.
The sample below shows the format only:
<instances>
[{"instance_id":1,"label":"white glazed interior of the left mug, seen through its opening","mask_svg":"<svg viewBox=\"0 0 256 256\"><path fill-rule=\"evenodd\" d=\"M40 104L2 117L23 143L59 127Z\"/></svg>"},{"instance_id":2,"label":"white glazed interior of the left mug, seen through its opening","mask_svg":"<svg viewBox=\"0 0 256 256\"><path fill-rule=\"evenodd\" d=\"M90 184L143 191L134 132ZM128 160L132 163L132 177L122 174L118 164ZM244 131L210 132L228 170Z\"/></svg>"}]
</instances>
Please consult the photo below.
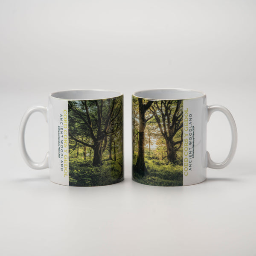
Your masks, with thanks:
<instances>
[{"instance_id":1,"label":"white glazed interior of the left mug, seen through its opening","mask_svg":"<svg viewBox=\"0 0 256 256\"><path fill-rule=\"evenodd\" d=\"M66 100L93 100L93 99L109 99L121 96L122 93L112 90L97 90L97 89L80 89L80 90L65 90L52 93L51 96L57 99Z\"/></svg>"}]
</instances>

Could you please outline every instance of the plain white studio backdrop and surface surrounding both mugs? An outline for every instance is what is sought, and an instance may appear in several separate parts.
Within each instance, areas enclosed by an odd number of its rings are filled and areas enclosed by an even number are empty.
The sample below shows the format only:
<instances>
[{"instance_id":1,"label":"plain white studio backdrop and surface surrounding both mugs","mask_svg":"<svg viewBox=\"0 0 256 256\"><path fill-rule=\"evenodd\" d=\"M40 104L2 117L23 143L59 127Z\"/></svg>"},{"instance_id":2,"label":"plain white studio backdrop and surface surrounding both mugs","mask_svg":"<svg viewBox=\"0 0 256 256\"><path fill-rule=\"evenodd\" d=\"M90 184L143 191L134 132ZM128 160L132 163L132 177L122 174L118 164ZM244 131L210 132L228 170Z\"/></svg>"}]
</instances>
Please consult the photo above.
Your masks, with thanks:
<instances>
[{"instance_id":1,"label":"plain white studio backdrop and surface surrounding both mugs","mask_svg":"<svg viewBox=\"0 0 256 256\"><path fill-rule=\"evenodd\" d=\"M256 255L256 2L0 1L1 255ZM233 114L233 162L206 182L151 187L131 181L131 93L177 87L207 93ZM125 94L125 181L73 188L20 156L23 113L75 88ZM47 123L26 129L34 160ZM230 128L215 113L207 148L225 158Z\"/></svg>"}]
</instances>

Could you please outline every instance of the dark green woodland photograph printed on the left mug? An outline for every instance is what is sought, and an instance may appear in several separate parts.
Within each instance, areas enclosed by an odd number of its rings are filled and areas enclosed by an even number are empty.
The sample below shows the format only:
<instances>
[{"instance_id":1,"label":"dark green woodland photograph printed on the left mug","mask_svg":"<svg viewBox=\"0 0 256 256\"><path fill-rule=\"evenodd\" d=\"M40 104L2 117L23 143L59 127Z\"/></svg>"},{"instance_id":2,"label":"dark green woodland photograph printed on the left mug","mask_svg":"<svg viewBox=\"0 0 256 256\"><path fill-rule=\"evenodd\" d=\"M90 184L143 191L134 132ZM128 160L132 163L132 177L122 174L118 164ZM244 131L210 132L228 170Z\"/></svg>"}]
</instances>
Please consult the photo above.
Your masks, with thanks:
<instances>
[{"instance_id":1,"label":"dark green woodland photograph printed on the left mug","mask_svg":"<svg viewBox=\"0 0 256 256\"><path fill-rule=\"evenodd\" d=\"M123 99L69 101L69 184L123 180Z\"/></svg>"}]
</instances>

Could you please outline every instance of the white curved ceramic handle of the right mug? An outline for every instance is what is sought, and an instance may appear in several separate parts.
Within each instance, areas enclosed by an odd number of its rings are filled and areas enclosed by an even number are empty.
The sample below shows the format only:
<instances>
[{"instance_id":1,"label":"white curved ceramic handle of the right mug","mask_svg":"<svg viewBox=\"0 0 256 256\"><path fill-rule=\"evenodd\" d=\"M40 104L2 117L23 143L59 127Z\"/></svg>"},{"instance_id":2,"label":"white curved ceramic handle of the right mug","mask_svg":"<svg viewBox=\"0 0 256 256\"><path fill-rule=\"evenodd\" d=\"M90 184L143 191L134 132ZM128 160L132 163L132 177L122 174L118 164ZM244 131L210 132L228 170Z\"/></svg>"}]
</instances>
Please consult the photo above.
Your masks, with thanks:
<instances>
[{"instance_id":1,"label":"white curved ceramic handle of the right mug","mask_svg":"<svg viewBox=\"0 0 256 256\"><path fill-rule=\"evenodd\" d=\"M222 169L224 167L226 167L231 160L234 157L234 154L236 152L236 145L237 145L237 129L236 129L236 123L235 120L232 116L232 114L230 113L230 111L220 105L211 105L211 106L207 106L207 111L208 111L208 122L210 119L210 116L212 115L213 112L215 111L219 111L221 113L224 113L224 115L227 117L228 122L230 123L230 128L231 128L231 136L232 136L232 140L231 140L231 147L230 147L230 151L229 154L227 155L227 158L221 162L221 163L215 163L214 161L212 161L209 152L207 151L207 157L208 157L208 163L207 163L207 167L212 168L212 169Z\"/></svg>"}]
</instances>

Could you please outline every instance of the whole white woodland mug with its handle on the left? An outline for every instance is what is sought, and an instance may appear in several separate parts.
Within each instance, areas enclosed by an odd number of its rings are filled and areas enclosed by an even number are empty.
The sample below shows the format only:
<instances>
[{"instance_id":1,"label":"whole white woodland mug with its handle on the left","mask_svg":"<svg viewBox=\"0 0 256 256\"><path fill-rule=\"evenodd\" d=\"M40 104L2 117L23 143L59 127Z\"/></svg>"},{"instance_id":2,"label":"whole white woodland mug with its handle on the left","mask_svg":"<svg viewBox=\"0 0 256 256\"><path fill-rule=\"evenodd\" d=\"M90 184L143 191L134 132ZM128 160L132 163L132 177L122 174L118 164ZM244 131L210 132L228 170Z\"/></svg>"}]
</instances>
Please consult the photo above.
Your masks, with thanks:
<instances>
[{"instance_id":1,"label":"whole white woodland mug with its handle on the left","mask_svg":"<svg viewBox=\"0 0 256 256\"><path fill-rule=\"evenodd\" d=\"M24 134L29 116L41 112L49 123L49 152L43 162L28 155ZM50 180L67 186L104 186L123 174L123 95L111 90L66 90L52 93L48 107L24 114L20 151L33 169L49 167Z\"/></svg>"}]
</instances>

